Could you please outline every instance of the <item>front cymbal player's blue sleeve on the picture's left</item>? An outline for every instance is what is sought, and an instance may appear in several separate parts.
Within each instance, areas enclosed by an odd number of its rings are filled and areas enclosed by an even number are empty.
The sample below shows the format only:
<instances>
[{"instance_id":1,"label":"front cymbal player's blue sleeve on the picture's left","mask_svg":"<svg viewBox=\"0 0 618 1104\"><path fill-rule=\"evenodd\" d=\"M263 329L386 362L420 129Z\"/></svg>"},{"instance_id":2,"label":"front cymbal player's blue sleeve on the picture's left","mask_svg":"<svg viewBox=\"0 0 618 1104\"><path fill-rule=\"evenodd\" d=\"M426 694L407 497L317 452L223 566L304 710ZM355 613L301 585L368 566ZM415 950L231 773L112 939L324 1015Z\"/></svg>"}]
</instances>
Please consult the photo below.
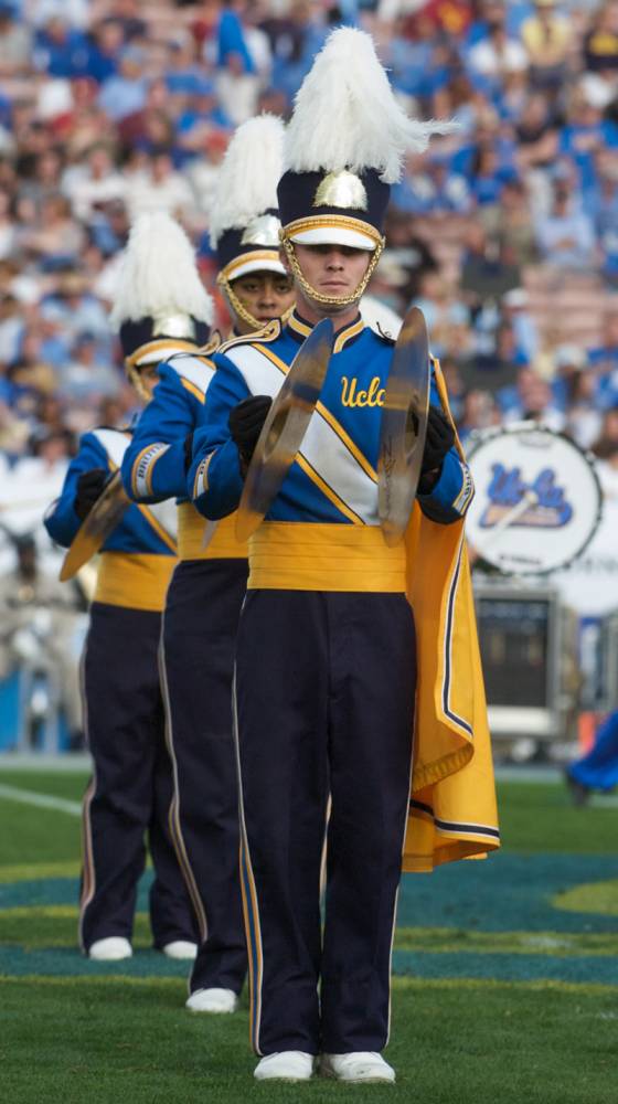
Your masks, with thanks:
<instances>
[{"instance_id":1,"label":"front cymbal player's blue sleeve on the picture's left","mask_svg":"<svg viewBox=\"0 0 618 1104\"><path fill-rule=\"evenodd\" d=\"M230 411L251 394L243 376L226 357L215 353L205 422L193 438L193 463L187 484L200 513L217 521L232 513L243 493L238 449L230 436Z\"/></svg>"}]
</instances>

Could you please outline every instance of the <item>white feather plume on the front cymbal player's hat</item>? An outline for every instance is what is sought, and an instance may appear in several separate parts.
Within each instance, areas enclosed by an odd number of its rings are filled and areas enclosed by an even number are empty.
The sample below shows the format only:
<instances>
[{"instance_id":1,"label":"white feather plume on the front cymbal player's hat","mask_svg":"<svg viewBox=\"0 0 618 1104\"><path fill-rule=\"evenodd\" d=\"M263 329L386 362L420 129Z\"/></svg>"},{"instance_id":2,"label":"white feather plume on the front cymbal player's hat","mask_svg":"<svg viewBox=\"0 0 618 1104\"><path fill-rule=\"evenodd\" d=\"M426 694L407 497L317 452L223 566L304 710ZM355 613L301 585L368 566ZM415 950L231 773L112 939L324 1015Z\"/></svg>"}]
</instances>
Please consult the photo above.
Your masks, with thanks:
<instances>
[{"instance_id":1,"label":"white feather plume on the front cymbal player's hat","mask_svg":"<svg viewBox=\"0 0 618 1104\"><path fill-rule=\"evenodd\" d=\"M401 180L406 152L423 152L431 135L456 123L409 119L393 95L371 35L342 26L327 39L299 88L287 127L286 169L338 172L377 169Z\"/></svg>"}]
</instances>

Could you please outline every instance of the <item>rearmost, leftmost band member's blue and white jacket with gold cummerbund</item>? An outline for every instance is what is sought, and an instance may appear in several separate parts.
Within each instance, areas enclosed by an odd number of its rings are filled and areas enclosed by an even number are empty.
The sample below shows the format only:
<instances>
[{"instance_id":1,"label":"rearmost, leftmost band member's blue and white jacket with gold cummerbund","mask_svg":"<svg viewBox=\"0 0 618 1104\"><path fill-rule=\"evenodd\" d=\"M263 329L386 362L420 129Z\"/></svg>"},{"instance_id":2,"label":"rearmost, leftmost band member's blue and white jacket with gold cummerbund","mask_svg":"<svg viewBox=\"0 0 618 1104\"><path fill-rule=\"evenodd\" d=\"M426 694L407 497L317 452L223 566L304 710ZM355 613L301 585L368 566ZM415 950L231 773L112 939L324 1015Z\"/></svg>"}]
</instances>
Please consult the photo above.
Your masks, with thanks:
<instances>
[{"instance_id":1,"label":"rearmost, leftmost band member's blue and white jacket with gold cummerbund","mask_svg":"<svg viewBox=\"0 0 618 1104\"><path fill-rule=\"evenodd\" d=\"M131 429L100 427L84 434L71 461L60 498L45 516L45 528L67 548L82 524L75 513L79 476L93 468L117 471L131 442ZM160 507L130 506L102 548L95 602L160 611L177 562L175 518Z\"/></svg>"}]
</instances>

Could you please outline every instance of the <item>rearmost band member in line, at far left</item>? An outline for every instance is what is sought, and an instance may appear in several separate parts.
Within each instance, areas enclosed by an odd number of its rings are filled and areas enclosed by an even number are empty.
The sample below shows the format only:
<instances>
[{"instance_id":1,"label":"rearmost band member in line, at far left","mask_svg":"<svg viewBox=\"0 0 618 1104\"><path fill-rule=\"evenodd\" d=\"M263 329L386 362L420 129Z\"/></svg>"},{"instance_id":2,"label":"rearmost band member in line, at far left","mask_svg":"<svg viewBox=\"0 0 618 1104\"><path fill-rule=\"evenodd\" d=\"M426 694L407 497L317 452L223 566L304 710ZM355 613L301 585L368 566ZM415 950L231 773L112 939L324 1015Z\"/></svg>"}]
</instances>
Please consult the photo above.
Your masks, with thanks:
<instances>
[{"instance_id":1,"label":"rearmost band member in line, at far left","mask_svg":"<svg viewBox=\"0 0 618 1104\"><path fill-rule=\"evenodd\" d=\"M140 264L157 241L158 274ZM149 402L159 361L195 349L209 333L212 300L189 242L167 215L142 215L125 257L116 305L129 378ZM99 426L82 437L45 526L72 543L128 447L132 429ZM79 936L93 959L128 958L145 835L154 881L154 946L194 958L198 927L170 837L172 769L166 747L158 648L161 611L177 563L175 518L131 506L103 545L84 659L84 728L94 761L84 798ZM127 657L130 657L129 660Z\"/></svg>"}]
</instances>

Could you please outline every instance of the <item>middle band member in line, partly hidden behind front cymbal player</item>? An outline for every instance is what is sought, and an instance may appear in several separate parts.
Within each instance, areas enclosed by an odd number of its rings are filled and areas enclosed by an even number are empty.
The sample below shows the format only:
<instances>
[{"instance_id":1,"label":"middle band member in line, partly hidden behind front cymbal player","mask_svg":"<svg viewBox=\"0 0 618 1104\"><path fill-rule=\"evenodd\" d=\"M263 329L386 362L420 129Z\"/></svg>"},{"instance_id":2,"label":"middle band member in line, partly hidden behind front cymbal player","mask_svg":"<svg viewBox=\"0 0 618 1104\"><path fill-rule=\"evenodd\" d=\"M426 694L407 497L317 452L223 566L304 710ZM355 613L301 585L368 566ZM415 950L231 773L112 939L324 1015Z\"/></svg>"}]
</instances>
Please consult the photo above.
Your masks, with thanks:
<instances>
[{"instance_id":1,"label":"middle band member in line, partly hidden behind front cymbal player","mask_svg":"<svg viewBox=\"0 0 618 1104\"><path fill-rule=\"evenodd\" d=\"M249 120L234 135L221 169L212 234L238 333L259 329L291 305L291 280L278 256L283 132L274 117ZM187 1001L194 1012L234 1011L246 974L231 701L247 550L235 538L234 519L204 533L185 489L185 438L204 420L213 373L204 350L161 364L122 464L134 500L180 500L180 562L166 603L161 660L174 769L172 830L201 934Z\"/></svg>"}]
</instances>

